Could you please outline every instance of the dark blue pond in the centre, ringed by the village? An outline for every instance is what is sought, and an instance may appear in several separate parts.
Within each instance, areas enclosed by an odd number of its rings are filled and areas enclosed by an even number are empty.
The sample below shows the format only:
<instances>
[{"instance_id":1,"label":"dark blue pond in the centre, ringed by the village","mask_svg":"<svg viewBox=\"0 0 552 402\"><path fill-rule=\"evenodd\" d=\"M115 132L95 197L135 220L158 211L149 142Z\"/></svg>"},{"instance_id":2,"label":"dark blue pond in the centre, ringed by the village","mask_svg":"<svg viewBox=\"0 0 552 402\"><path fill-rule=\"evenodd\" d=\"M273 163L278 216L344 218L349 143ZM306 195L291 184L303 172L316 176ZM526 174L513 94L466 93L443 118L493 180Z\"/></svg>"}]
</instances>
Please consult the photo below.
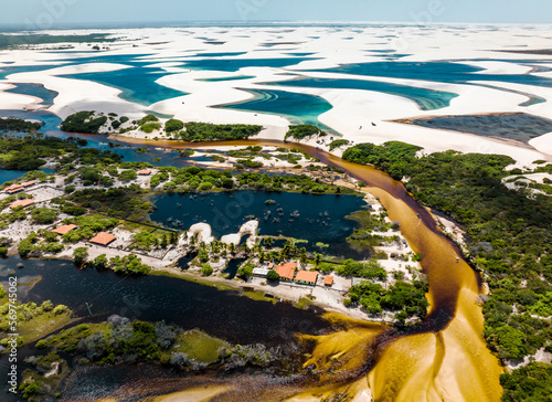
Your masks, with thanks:
<instances>
[{"instance_id":1,"label":"dark blue pond in the centre, ringed by the village","mask_svg":"<svg viewBox=\"0 0 552 402\"><path fill-rule=\"evenodd\" d=\"M275 204L266 204L274 200ZM194 223L209 223L215 237L236 233L252 218L259 220L258 234L306 240L298 243L309 252L341 257L368 257L368 251L355 251L347 237L357 223L344 216L362 209L360 197L302 194L289 192L216 192L209 194L160 195L152 221L168 226L189 229ZM325 246L321 244L322 243Z\"/></svg>"}]
</instances>

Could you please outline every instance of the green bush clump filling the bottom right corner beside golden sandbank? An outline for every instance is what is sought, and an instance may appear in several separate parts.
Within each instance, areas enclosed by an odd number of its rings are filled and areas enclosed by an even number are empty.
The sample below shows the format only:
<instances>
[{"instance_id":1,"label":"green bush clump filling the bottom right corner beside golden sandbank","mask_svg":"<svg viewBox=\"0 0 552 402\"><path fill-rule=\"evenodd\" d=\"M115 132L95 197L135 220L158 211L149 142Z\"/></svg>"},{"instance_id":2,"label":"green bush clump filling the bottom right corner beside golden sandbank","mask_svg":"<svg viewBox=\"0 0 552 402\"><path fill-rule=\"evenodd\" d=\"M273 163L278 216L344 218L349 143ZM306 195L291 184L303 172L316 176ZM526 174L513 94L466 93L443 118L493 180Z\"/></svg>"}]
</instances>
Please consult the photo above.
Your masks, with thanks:
<instances>
[{"instance_id":1,"label":"green bush clump filling the bottom right corner beside golden sandbank","mask_svg":"<svg viewBox=\"0 0 552 402\"><path fill-rule=\"evenodd\" d=\"M552 395L552 366L529 363L511 374L500 375L503 402L549 402Z\"/></svg>"}]
</instances>

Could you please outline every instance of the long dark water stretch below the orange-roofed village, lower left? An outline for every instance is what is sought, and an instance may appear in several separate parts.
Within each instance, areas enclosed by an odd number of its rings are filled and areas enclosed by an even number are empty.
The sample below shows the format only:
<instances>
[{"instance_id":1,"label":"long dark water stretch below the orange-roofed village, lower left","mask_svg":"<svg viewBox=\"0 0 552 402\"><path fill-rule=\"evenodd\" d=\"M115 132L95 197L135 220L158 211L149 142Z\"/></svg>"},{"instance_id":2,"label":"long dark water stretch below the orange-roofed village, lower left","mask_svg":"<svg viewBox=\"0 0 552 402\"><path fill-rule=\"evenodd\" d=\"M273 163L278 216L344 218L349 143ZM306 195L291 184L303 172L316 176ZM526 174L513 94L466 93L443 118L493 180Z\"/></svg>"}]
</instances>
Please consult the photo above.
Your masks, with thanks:
<instances>
[{"instance_id":1,"label":"long dark water stretch below the orange-roofed village, lower left","mask_svg":"<svg viewBox=\"0 0 552 402\"><path fill-rule=\"evenodd\" d=\"M17 268L22 262L24 267ZM72 262L10 257L0 261L0 282L7 284L15 269L19 282L42 279L30 290L19 292L23 302L52 300L68 306L79 317L104 320L117 314L130 319L200 328L231 342L276 345L297 331L315 334L328 325L312 310L290 304L256 302L234 290L219 290L168 276L123 276L110 271L78 269ZM318 309L320 313L321 309Z\"/></svg>"}]
</instances>

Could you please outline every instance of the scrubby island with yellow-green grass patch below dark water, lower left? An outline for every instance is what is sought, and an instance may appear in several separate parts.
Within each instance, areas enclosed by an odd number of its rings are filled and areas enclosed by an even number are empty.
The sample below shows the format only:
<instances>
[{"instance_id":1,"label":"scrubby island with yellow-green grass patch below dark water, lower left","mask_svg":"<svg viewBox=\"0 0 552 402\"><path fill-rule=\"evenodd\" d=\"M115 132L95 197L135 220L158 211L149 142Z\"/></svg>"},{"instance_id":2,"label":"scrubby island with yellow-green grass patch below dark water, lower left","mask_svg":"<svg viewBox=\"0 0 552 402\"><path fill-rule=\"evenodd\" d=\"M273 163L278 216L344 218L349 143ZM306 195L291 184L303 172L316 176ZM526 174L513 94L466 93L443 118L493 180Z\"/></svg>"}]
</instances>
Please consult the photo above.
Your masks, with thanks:
<instances>
[{"instance_id":1,"label":"scrubby island with yellow-green grass patch below dark water, lower left","mask_svg":"<svg viewBox=\"0 0 552 402\"><path fill-rule=\"evenodd\" d=\"M147 363L181 373L214 370L266 370L275 364L278 373L290 373L297 357L283 348L264 345L232 345L201 330L183 330L164 322L130 321L117 315L99 324L81 324L63 329L35 345L28 357L20 392L26 400L51 398L72 368L87 364L121 366ZM285 371L286 370L286 371Z\"/></svg>"}]
</instances>

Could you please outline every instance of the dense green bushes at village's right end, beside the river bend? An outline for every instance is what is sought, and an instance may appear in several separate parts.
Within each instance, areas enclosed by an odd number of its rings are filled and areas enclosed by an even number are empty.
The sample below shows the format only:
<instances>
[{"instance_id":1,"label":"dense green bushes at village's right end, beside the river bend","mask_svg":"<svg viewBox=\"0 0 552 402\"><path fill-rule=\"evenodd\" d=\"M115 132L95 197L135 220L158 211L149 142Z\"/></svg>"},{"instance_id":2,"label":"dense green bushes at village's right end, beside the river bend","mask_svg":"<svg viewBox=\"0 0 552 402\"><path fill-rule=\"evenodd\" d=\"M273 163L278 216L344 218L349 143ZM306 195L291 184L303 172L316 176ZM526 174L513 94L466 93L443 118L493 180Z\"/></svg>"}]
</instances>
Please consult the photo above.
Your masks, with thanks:
<instances>
[{"instance_id":1,"label":"dense green bushes at village's right end, beside the river bend","mask_svg":"<svg viewBox=\"0 0 552 402\"><path fill-rule=\"evenodd\" d=\"M427 283L414 281L408 284L396 281L394 285L385 290L381 285L372 282L362 282L349 289L349 299L346 304L359 303L371 315L381 316L384 310L396 311L395 319L399 325L405 325L408 318L423 319L429 306L425 294L428 290Z\"/></svg>"}]
</instances>

